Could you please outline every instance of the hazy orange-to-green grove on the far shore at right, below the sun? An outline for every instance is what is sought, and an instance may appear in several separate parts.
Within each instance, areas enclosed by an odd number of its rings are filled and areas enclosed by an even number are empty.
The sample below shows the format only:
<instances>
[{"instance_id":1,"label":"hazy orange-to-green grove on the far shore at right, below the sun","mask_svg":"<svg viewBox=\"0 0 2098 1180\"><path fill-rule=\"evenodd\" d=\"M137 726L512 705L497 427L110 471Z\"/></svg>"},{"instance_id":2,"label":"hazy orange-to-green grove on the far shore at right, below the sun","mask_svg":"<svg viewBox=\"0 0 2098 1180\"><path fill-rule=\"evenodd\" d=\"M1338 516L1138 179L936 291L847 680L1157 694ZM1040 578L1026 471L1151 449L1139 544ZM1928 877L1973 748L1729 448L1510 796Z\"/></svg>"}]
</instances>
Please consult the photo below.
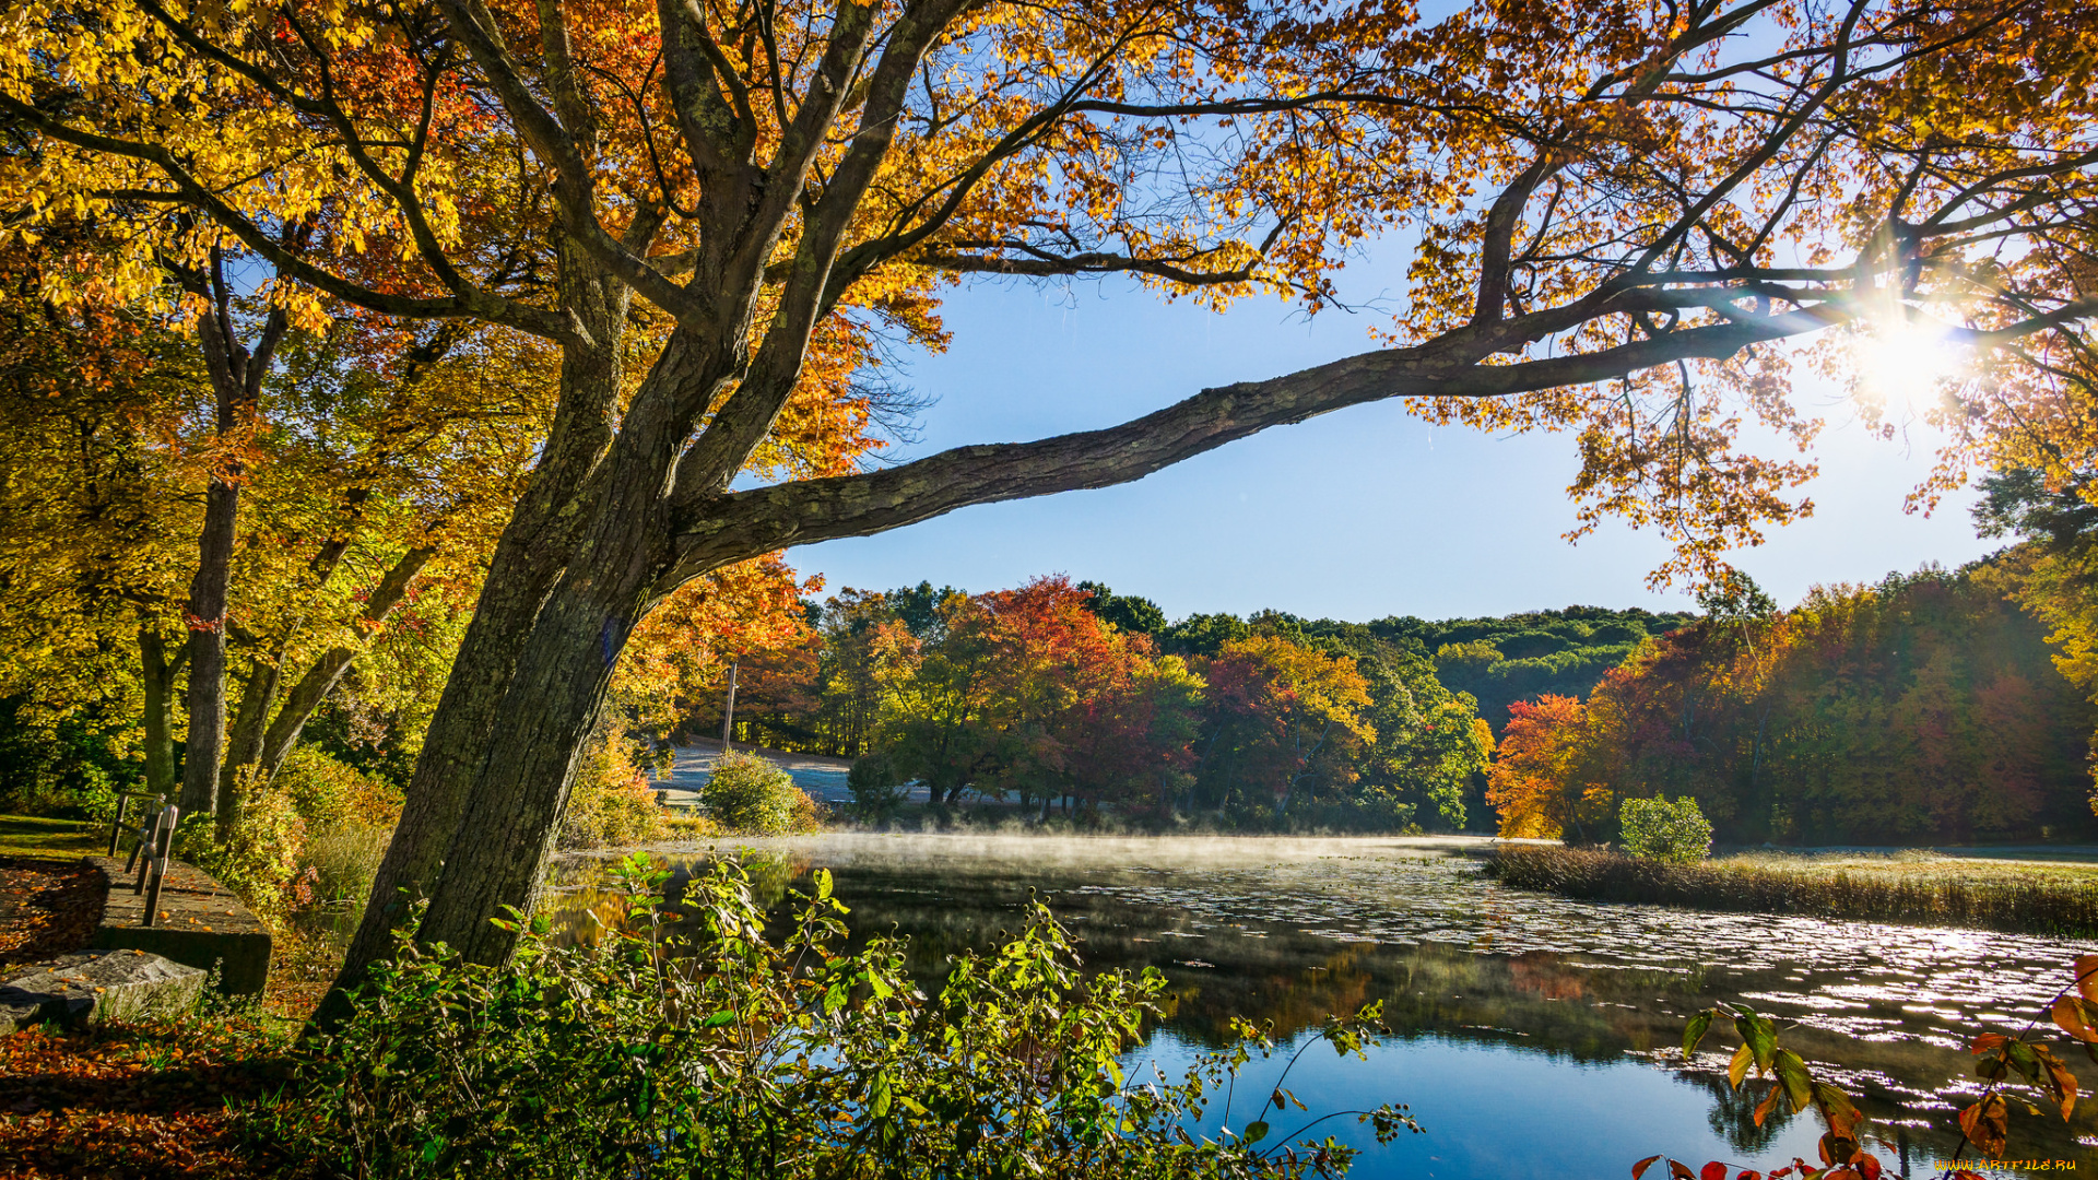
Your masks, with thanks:
<instances>
[{"instance_id":1,"label":"hazy orange-to-green grove on the far shore at right, below the sun","mask_svg":"<svg viewBox=\"0 0 2098 1180\"><path fill-rule=\"evenodd\" d=\"M1775 605L1741 575L1586 697L1511 705L1506 836L1613 840L1628 798L1693 798L1729 844L1968 844L2098 834L2098 710L2016 598L2010 552Z\"/></svg>"}]
</instances>

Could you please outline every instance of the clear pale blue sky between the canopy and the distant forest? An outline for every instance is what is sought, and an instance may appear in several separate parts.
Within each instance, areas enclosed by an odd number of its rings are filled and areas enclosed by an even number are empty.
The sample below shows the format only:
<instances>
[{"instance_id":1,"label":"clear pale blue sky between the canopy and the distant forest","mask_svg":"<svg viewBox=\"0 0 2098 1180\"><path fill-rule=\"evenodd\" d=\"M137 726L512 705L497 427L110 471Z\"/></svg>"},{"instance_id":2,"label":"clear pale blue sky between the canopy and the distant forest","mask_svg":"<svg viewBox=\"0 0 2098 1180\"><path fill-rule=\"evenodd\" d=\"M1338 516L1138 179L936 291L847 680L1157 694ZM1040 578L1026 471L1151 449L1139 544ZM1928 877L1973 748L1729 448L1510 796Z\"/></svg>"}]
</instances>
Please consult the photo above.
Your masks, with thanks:
<instances>
[{"instance_id":1,"label":"clear pale blue sky between the canopy and the distant forest","mask_svg":"<svg viewBox=\"0 0 2098 1180\"><path fill-rule=\"evenodd\" d=\"M1259 380L1372 346L1389 313L1294 315L1248 300L1225 315L1164 304L1118 283L950 292L952 346L902 376L936 397L923 439L894 454L1020 441L1108 426L1204 386ZM1974 535L1972 496L1907 517L1928 445L1882 443L1825 393L1811 521L1735 554L1779 603L1817 582L1876 582L1926 561L1960 565L1995 548ZM1106 582L1173 617L1276 607L1307 617L1502 615L1597 605L1687 609L1649 592L1662 544L1626 527L1569 546L1565 493L1578 470L1565 435L1487 437L1429 428L1399 405L1343 409L1265 430L1150 479L1041 500L963 508L875 538L804 546L789 561L827 592L929 580L965 590L1039 573Z\"/></svg>"}]
</instances>

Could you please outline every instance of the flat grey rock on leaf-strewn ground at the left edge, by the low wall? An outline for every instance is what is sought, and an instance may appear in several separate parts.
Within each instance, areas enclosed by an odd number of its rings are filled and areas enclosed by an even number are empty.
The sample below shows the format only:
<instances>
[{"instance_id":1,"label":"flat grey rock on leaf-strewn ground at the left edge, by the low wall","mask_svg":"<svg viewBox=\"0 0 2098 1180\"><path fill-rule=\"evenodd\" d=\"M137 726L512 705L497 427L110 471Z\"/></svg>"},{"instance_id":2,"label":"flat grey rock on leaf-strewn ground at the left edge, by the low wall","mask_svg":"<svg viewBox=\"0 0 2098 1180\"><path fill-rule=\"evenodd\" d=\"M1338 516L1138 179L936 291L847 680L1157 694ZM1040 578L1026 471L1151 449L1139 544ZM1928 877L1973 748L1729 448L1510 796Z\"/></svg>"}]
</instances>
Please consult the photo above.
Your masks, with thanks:
<instances>
[{"instance_id":1,"label":"flat grey rock on leaf-strewn ground at the left edge, by the low wall","mask_svg":"<svg viewBox=\"0 0 2098 1180\"><path fill-rule=\"evenodd\" d=\"M0 978L0 1033L61 1020L180 1016L204 995L204 972L147 951L80 951Z\"/></svg>"}]
</instances>

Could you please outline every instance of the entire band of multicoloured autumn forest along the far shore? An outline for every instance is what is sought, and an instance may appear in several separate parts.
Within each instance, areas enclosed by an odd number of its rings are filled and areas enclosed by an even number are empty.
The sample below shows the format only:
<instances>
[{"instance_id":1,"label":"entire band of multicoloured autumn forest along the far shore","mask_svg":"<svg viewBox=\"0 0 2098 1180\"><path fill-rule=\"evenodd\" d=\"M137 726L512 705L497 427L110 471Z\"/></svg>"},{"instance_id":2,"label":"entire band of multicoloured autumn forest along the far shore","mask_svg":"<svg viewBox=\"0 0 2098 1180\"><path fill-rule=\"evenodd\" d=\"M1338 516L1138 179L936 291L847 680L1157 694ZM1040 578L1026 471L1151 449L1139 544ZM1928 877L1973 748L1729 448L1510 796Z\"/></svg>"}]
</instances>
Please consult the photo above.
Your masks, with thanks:
<instances>
[{"instance_id":1,"label":"entire band of multicoloured autumn forest along the far shore","mask_svg":"<svg viewBox=\"0 0 2098 1180\"><path fill-rule=\"evenodd\" d=\"M2018 603L2029 565L1368 624L921 582L806 600L738 731L1043 815L1607 842L1620 800L1691 796L1733 844L2081 840L2098 710Z\"/></svg>"}]
</instances>

